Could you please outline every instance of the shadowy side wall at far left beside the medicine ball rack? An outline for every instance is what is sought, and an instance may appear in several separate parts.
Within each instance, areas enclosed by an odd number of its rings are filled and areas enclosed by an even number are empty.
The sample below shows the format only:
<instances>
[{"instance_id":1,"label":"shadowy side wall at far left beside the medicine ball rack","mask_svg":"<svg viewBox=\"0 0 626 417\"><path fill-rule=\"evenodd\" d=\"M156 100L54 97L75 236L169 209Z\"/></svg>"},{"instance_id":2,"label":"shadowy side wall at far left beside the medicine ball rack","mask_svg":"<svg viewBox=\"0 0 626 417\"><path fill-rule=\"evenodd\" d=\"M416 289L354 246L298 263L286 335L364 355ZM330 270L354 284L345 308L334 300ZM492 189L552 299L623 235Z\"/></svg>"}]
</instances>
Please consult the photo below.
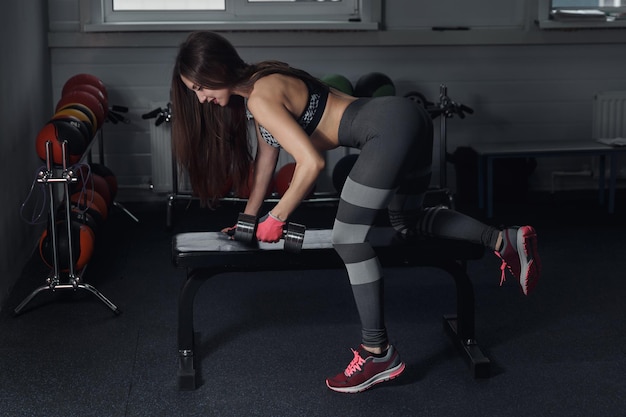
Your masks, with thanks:
<instances>
[{"instance_id":1,"label":"shadowy side wall at far left beside the medicine ball rack","mask_svg":"<svg viewBox=\"0 0 626 417\"><path fill-rule=\"evenodd\" d=\"M22 220L37 168L35 138L50 118L46 2L5 2L0 16L0 307L30 258L42 226ZM37 195L37 193L35 193ZM41 194L38 195L41 197ZM30 221L32 210L23 213ZM44 215L44 220L46 219ZM46 277L41 277L41 284Z\"/></svg>"}]
</instances>

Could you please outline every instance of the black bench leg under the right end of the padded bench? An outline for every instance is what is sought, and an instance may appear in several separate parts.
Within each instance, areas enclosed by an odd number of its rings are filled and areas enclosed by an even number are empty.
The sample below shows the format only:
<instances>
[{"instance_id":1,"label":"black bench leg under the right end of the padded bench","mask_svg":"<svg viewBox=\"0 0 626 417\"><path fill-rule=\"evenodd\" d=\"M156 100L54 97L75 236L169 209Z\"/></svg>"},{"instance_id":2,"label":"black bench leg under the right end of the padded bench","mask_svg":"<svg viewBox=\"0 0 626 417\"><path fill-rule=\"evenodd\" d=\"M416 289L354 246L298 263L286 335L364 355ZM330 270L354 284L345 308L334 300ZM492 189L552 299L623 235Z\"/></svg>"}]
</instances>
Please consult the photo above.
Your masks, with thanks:
<instances>
[{"instance_id":1,"label":"black bench leg under the right end of the padded bench","mask_svg":"<svg viewBox=\"0 0 626 417\"><path fill-rule=\"evenodd\" d=\"M445 263L440 267L454 278L457 293L457 313L444 315L444 329L468 362L474 378L488 378L491 374L491 363L483 355L475 339L475 302L472 282L465 268L457 262Z\"/></svg>"}]
</instances>

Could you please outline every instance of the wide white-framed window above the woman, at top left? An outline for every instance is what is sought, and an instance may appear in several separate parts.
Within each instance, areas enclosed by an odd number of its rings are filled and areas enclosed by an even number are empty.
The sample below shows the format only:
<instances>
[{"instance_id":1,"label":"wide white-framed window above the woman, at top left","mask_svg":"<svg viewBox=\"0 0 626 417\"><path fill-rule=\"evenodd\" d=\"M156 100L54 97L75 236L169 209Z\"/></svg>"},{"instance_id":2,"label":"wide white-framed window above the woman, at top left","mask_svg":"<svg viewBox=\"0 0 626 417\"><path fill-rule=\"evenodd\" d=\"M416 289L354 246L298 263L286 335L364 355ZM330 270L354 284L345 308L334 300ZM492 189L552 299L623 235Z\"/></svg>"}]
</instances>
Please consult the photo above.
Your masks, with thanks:
<instances>
[{"instance_id":1,"label":"wide white-framed window above the woman, at top left","mask_svg":"<svg viewBox=\"0 0 626 417\"><path fill-rule=\"evenodd\" d=\"M378 28L381 0L83 0L86 31Z\"/></svg>"}]
</instances>

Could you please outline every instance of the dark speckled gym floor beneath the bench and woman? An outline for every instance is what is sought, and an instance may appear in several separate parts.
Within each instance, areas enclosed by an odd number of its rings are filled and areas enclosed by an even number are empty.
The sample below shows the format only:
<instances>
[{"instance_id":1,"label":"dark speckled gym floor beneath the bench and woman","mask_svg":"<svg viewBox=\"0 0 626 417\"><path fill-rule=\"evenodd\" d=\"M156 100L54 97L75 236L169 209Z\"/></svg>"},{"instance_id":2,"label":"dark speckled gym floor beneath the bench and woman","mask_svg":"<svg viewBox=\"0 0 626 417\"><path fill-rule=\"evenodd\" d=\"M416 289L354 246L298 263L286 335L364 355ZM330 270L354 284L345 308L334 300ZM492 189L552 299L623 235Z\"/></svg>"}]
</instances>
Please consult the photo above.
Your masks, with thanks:
<instances>
[{"instance_id":1,"label":"dark speckled gym floor beneath the bench and woman","mask_svg":"<svg viewBox=\"0 0 626 417\"><path fill-rule=\"evenodd\" d=\"M474 379L443 331L454 285L428 268L390 269L387 323L407 363L394 381L357 394L328 390L359 341L344 271L229 273L196 299L202 383L177 386L177 294L184 271L171 238L234 223L241 206L178 202L165 227L165 199L124 203L98 231L85 281L121 310L86 292L44 292L37 253L0 316L1 416L623 416L626 409L626 196L606 214L595 194L530 196L498 206L493 224L533 224L543 277L524 297L499 286L489 253L468 266L476 291L477 341L492 376ZM471 211L471 209L467 209ZM332 205L303 205L293 218L332 224Z\"/></svg>"}]
</instances>

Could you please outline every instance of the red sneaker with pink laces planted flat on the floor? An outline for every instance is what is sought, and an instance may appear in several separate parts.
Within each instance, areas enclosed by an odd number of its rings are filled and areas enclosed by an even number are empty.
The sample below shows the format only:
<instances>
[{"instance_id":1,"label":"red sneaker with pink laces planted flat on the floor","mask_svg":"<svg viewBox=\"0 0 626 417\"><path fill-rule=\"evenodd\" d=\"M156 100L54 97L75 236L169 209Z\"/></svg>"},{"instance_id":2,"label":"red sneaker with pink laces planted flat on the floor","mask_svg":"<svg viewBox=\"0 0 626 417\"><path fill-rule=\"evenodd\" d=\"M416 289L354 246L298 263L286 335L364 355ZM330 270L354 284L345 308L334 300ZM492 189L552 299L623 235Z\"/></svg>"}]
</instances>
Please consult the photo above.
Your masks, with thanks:
<instances>
[{"instance_id":1,"label":"red sneaker with pink laces planted flat on the floor","mask_svg":"<svg viewBox=\"0 0 626 417\"><path fill-rule=\"evenodd\" d=\"M363 345L357 350L352 349L354 358L345 371L328 378L326 386L337 392L356 393L365 391L379 382L388 381L404 371L404 362L400 355L389 346L385 356L378 358L365 350Z\"/></svg>"}]
</instances>

